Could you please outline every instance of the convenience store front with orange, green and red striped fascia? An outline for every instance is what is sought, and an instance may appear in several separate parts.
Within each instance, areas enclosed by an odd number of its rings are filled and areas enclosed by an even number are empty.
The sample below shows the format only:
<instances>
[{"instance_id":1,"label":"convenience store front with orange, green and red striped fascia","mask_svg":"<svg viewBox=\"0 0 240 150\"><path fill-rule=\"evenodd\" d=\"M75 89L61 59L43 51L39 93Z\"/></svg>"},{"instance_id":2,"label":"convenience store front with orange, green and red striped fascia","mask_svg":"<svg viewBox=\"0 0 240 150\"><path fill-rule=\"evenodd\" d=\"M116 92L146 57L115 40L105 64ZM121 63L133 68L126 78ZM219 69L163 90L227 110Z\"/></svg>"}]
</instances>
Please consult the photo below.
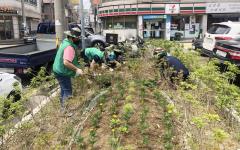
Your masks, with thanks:
<instances>
[{"instance_id":1,"label":"convenience store front with orange, green and red striped fascia","mask_svg":"<svg viewBox=\"0 0 240 150\"><path fill-rule=\"evenodd\" d=\"M122 39L129 35L166 40L176 40L180 35L180 40L192 39L206 28L204 16L206 3L120 4L98 10L103 33L117 33Z\"/></svg>"}]
</instances>

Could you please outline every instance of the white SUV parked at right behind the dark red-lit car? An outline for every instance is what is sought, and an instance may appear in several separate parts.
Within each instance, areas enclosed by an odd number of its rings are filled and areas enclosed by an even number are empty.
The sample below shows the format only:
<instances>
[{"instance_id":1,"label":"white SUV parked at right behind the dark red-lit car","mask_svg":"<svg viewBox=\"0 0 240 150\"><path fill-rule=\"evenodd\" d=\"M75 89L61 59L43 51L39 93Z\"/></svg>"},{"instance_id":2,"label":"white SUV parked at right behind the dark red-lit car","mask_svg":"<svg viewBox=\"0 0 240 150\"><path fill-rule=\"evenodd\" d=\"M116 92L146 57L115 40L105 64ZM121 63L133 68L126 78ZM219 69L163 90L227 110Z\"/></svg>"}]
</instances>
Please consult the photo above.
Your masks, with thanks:
<instances>
[{"instance_id":1,"label":"white SUV parked at right behind the dark red-lit car","mask_svg":"<svg viewBox=\"0 0 240 150\"><path fill-rule=\"evenodd\" d=\"M218 40L232 40L239 37L240 22L214 23L204 35L202 53L212 56L213 49Z\"/></svg>"}]
</instances>

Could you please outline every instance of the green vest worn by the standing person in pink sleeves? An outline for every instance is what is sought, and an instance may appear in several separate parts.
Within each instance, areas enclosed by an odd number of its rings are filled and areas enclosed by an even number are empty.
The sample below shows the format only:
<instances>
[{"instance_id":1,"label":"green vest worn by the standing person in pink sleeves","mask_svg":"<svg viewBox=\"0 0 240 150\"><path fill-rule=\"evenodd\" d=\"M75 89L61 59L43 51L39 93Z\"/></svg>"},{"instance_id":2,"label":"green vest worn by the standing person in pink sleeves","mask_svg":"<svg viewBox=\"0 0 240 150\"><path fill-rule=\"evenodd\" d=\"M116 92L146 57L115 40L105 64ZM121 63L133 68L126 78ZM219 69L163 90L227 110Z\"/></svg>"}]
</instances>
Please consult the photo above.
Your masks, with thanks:
<instances>
[{"instance_id":1,"label":"green vest worn by the standing person in pink sleeves","mask_svg":"<svg viewBox=\"0 0 240 150\"><path fill-rule=\"evenodd\" d=\"M55 74L61 75L61 76L74 77L76 72L71 70L71 69L68 69L63 64L64 49L68 46L72 46L75 50L75 56L74 56L74 59L72 61L73 65L75 65L76 67L80 66L79 63L78 63L78 60L77 60L77 52L76 52L77 46L73 42L69 41L68 39L64 39L62 44L60 45L58 51L57 51L56 57L55 57L55 60L54 60L54 63L53 63L53 72Z\"/></svg>"}]
</instances>

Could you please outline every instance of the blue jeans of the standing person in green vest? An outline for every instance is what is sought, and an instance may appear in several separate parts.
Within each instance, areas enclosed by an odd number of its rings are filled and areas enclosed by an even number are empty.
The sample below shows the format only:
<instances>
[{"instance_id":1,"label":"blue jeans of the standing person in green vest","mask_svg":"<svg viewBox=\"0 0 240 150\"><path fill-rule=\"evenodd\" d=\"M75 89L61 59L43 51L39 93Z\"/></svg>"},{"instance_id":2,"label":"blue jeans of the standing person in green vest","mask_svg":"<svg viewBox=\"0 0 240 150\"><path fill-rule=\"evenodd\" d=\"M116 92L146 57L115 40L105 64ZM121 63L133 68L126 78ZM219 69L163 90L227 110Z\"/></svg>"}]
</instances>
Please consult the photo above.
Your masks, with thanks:
<instances>
[{"instance_id":1,"label":"blue jeans of the standing person in green vest","mask_svg":"<svg viewBox=\"0 0 240 150\"><path fill-rule=\"evenodd\" d=\"M71 77L55 75L61 88L60 103L64 107L64 102L72 96Z\"/></svg>"}]
</instances>

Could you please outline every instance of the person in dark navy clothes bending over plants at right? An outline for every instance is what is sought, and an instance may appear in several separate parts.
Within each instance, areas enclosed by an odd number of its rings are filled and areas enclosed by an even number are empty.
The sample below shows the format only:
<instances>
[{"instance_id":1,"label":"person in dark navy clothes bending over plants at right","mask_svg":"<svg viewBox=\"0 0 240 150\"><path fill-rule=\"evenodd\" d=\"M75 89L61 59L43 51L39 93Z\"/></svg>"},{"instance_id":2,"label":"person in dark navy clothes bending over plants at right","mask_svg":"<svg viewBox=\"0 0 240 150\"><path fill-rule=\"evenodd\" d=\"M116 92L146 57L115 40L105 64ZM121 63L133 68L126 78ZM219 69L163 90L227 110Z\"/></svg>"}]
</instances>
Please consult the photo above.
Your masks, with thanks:
<instances>
[{"instance_id":1,"label":"person in dark navy clothes bending over plants at right","mask_svg":"<svg viewBox=\"0 0 240 150\"><path fill-rule=\"evenodd\" d=\"M172 68L170 72L170 80L174 82L174 78L182 75L182 79L186 80L189 76L189 70L187 67L176 57L168 56L164 50L158 54L160 60L160 70L163 73L164 70ZM164 75L164 74L163 74Z\"/></svg>"}]
</instances>

